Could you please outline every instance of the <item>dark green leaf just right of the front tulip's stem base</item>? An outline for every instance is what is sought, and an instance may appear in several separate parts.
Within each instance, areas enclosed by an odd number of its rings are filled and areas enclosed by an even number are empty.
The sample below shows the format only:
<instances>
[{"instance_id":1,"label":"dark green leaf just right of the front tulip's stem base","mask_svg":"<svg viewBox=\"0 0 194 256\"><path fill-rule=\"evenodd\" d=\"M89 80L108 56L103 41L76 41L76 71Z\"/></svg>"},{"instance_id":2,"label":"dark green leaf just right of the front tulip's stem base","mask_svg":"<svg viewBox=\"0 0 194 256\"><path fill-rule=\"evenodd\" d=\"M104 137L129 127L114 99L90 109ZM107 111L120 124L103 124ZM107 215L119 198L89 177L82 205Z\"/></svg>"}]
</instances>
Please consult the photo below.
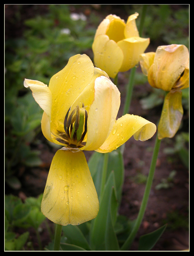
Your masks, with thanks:
<instances>
[{"instance_id":1,"label":"dark green leaf just right of the front tulip's stem base","mask_svg":"<svg viewBox=\"0 0 194 256\"><path fill-rule=\"evenodd\" d=\"M63 236L67 238L68 244L74 244L75 246L81 247L87 251L90 251L91 248L84 237L82 231L78 226L67 225L62 227Z\"/></svg>"}]
</instances>

